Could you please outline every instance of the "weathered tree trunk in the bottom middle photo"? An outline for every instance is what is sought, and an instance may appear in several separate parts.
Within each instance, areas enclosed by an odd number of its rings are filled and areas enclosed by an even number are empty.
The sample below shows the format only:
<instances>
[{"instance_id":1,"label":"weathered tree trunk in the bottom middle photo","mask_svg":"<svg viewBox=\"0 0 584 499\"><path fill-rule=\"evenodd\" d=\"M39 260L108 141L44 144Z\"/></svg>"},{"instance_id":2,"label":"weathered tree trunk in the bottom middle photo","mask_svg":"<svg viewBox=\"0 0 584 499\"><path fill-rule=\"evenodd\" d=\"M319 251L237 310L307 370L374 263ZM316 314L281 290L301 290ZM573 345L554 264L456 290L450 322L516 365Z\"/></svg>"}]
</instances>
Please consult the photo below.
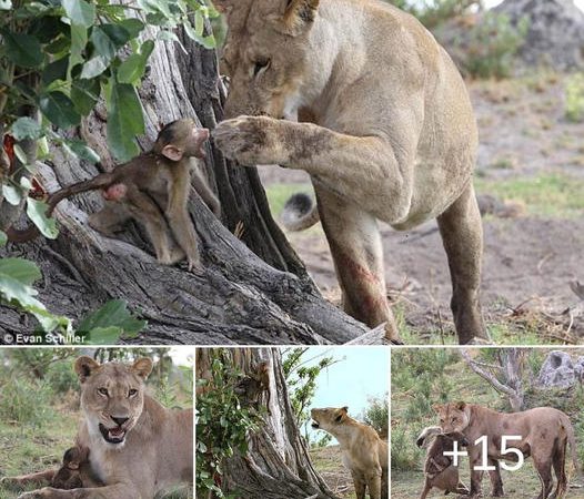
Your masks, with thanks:
<instances>
[{"instance_id":1,"label":"weathered tree trunk in the bottom middle photo","mask_svg":"<svg viewBox=\"0 0 584 499\"><path fill-rule=\"evenodd\" d=\"M197 379L209 379L210 349L197 353ZM253 366L268 361L270 411L256 432L248 435L249 450L235 452L223 465L221 489L248 499L335 499L314 470L295 422L282 370L281 353L275 348L231 349L235 368L252 375ZM214 387L217 389L217 387ZM211 388L213 389L213 388ZM262 398L265 404L266 397ZM221 415L218 415L218 418Z\"/></svg>"}]
</instances>

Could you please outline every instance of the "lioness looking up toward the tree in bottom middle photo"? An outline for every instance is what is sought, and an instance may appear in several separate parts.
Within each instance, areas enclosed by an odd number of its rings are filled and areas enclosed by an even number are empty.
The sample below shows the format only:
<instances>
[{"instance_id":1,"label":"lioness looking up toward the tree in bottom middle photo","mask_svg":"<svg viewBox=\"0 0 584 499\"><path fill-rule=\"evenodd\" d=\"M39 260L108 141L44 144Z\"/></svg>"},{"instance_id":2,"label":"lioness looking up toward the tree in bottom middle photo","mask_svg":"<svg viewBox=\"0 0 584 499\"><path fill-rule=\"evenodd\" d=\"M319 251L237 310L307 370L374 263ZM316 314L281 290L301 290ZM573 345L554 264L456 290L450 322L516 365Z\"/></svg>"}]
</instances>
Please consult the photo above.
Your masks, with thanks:
<instances>
[{"instance_id":1,"label":"lioness looking up toward the tree in bottom middle photo","mask_svg":"<svg viewBox=\"0 0 584 499\"><path fill-rule=\"evenodd\" d=\"M386 499L387 444L367 425L351 418L348 407L312 409L312 427L331 434L341 445L343 464L351 471L356 499L365 499L369 490L371 499Z\"/></svg>"}]
</instances>

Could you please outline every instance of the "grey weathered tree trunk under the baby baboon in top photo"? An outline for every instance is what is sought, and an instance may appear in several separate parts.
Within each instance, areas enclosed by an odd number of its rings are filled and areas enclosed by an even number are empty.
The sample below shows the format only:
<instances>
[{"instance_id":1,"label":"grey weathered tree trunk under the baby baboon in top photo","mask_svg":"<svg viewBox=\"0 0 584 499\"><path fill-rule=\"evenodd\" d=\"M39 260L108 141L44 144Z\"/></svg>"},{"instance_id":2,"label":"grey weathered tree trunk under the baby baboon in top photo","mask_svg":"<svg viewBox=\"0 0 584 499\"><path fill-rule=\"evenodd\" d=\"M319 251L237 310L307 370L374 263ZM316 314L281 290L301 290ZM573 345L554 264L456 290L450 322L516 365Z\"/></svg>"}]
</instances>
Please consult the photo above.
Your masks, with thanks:
<instances>
[{"instance_id":1,"label":"grey weathered tree trunk under the baby baboon in top photo","mask_svg":"<svg viewBox=\"0 0 584 499\"><path fill-rule=\"evenodd\" d=\"M149 140L155 138L160 123L181 116L195 118L209 129L221 120L224 90L215 52L185 37L182 43L188 53L159 42L152 54L150 74L140 90ZM77 133L111 169L103 110L98 109ZM212 144L208 153L205 165L222 202L223 220L218 221L198 198L191 200L191 216L204 248L203 275L159 265L138 227L127 231L123 240L92 231L87 214L100 205L99 193L58 206L58 240L9 244L0 256L23 256L41 266L43 283L37 287L53 313L79 318L108 299L127 301L149 322L134 343L339 344L367 333L322 298L272 220L255 169L226 162ZM38 176L52 192L97 173L95 167L56 150L52 163L40 165ZM30 333L33 327L34 319L0 307L0 333Z\"/></svg>"}]
</instances>

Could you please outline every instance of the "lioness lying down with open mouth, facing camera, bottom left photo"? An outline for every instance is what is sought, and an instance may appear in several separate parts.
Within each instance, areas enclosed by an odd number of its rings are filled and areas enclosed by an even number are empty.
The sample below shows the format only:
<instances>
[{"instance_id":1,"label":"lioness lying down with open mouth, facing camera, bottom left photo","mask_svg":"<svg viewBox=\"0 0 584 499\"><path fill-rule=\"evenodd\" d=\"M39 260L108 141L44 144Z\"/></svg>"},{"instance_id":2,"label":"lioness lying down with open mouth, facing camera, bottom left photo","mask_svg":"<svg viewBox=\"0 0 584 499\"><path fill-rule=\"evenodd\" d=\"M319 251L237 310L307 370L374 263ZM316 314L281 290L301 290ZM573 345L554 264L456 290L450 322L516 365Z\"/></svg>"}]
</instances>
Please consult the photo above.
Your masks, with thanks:
<instances>
[{"instance_id":1,"label":"lioness lying down with open mouth, facing camera, bottom left photo","mask_svg":"<svg viewBox=\"0 0 584 499\"><path fill-rule=\"evenodd\" d=\"M89 449L99 488L44 487L19 499L153 499L159 491L193 479L193 413L170 410L145 395L152 360L99 365L90 357L74 364L81 383L83 420L77 445ZM21 485L48 481L54 471L19 477ZM8 479L14 482L14 479Z\"/></svg>"}]
</instances>

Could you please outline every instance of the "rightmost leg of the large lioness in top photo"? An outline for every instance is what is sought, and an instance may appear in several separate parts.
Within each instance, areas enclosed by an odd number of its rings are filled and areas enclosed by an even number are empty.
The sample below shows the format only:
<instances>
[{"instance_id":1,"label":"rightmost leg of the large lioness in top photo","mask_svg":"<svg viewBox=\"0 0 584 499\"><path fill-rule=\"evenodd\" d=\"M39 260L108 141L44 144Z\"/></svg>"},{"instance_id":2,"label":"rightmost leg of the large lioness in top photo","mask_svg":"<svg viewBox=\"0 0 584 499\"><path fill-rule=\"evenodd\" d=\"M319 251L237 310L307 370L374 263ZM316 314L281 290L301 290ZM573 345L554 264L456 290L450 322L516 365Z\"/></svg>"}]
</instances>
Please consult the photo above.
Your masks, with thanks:
<instances>
[{"instance_id":1,"label":"rightmost leg of the large lioness in top photo","mask_svg":"<svg viewBox=\"0 0 584 499\"><path fill-rule=\"evenodd\" d=\"M491 340L486 332L479 288L483 258L483 224L472 183L437 217L452 279L451 308L460 344Z\"/></svg>"}]
</instances>

